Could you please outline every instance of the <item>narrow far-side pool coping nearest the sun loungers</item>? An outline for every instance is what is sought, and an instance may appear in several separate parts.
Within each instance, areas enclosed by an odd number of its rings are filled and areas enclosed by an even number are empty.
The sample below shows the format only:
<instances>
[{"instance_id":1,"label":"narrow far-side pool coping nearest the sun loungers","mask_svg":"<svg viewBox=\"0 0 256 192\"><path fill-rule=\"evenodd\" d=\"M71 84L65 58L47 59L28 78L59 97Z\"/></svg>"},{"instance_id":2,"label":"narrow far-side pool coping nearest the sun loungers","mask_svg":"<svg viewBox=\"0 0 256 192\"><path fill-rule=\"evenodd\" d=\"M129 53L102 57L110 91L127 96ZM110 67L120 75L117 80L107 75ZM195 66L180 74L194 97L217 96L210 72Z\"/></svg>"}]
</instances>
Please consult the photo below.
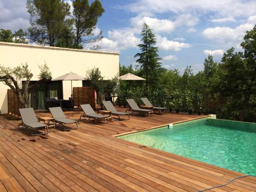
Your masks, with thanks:
<instances>
[{"instance_id":1,"label":"narrow far-side pool coping nearest the sun loungers","mask_svg":"<svg viewBox=\"0 0 256 192\"><path fill-rule=\"evenodd\" d=\"M173 123L167 123L167 124L153 126L153 127L148 128L148 129L143 129L143 130L137 130L137 131L131 131L131 132L121 133L121 134L117 134L117 135L112 135L112 137L120 137L120 136L123 136L123 135L129 135L129 134L148 131L148 130L154 130L154 129L158 129L158 128L163 127L163 126L168 126L169 124L179 124L179 123L184 123L184 122L194 121L194 120L204 119L204 118L216 119L216 115L204 115L202 117L197 117L197 118L194 118L194 119L182 120L182 121L177 121L177 122L173 122Z\"/></svg>"}]
</instances>

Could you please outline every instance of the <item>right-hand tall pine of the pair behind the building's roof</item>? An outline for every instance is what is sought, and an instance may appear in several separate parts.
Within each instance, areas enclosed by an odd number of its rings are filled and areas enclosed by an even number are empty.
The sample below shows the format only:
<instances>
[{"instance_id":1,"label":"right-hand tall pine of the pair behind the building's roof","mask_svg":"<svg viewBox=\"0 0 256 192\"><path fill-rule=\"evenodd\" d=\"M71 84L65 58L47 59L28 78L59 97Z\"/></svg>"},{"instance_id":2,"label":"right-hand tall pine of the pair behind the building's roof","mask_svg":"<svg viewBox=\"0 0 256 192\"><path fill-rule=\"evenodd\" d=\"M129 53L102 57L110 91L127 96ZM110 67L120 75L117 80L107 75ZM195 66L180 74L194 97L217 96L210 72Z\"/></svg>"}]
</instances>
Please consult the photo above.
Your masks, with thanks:
<instances>
[{"instance_id":1,"label":"right-hand tall pine of the pair behind the building's roof","mask_svg":"<svg viewBox=\"0 0 256 192\"><path fill-rule=\"evenodd\" d=\"M97 42L102 38L102 31L94 35L93 30L96 28L98 18L104 12L101 3L98 0L89 5L88 0L75 0L73 2L73 19L74 19L74 47L81 49L86 42Z\"/></svg>"}]
</instances>

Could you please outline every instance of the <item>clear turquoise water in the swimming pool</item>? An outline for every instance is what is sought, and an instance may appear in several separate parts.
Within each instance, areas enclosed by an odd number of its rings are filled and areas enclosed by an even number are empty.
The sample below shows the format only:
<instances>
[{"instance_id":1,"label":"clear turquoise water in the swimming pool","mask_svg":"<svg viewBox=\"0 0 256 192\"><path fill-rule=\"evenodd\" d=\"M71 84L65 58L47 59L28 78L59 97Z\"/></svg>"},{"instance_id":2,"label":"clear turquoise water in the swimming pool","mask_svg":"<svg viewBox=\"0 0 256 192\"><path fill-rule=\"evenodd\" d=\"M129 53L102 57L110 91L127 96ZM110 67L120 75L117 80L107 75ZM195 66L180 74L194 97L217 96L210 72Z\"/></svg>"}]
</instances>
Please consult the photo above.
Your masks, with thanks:
<instances>
[{"instance_id":1,"label":"clear turquoise water in the swimming pool","mask_svg":"<svg viewBox=\"0 0 256 192\"><path fill-rule=\"evenodd\" d=\"M119 138L256 176L256 124L200 119Z\"/></svg>"}]
</instances>

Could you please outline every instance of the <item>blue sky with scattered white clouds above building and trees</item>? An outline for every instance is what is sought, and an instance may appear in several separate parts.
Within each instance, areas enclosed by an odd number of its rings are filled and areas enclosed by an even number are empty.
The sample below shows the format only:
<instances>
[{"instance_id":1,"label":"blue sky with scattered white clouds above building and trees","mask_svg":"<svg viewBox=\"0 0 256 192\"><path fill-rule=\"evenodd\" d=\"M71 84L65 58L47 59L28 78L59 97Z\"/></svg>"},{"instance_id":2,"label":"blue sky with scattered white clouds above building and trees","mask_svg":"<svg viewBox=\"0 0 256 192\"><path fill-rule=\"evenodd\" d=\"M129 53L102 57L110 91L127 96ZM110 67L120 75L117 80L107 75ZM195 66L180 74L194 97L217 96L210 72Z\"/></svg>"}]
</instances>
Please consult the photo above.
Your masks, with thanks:
<instances>
[{"instance_id":1,"label":"blue sky with scattered white clouds above building and trees","mask_svg":"<svg viewBox=\"0 0 256 192\"><path fill-rule=\"evenodd\" d=\"M89 0L91 3L93 0ZM72 4L71 0L65 2ZM162 67L183 73L191 66L194 74L203 69L211 54L221 61L231 47L241 51L246 31L256 24L256 0L100 0L105 12L94 33L103 38L96 45L101 51L120 53L120 64L137 65L143 22L157 37ZM29 27L26 0L0 0L0 29ZM89 49L93 44L87 44Z\"/></svg>"}]
</instances>

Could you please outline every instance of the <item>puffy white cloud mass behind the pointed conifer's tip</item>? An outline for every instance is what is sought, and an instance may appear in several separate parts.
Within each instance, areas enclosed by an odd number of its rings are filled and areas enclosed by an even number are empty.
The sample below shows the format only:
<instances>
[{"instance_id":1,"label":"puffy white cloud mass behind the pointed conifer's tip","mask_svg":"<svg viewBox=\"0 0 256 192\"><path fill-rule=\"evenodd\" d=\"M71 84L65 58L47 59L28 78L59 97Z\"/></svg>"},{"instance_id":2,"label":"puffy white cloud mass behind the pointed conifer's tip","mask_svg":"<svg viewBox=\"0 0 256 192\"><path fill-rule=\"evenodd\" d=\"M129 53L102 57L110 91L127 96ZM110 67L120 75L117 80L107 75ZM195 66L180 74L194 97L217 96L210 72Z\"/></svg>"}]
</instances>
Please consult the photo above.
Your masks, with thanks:
<instances>
[{"instance_id":1,"label":"puffy white cloud mass behind the pointed conifer's tip","mask_svg":"<svg viewBox=\"0 0 256 192\"><path fill-rule=\"evenodd\" d=\"M166 37L161 37L159 35L163 32L171 32L178 25L185 25L184 19L187 16L180 16L177 18L175 22L168 19L158 19L154 17L148 16L136 16L130 19L131 27L121 28L121 29L113 29L108 32L108 37L102 39L103 42L99 41L94 45L99 45L101 50L105 51L120 51L127 48L136 48L138 44L140 44L140 38L137 36L141 32L143 22L146 22L156 33L157 37L157 47L162 50L174 50L179 51L182 48L191 47L189 44L179 42L178 40L185 40L182 37L177 38L176 40L168 40ZM187 18L189 19L189 18ZM197 20L197 19L196 19ZM190 22L186 25L194 25L196 22ZM99 29L98 29L99 30ZM136 36L137 35L137 36Z\"/></svg>"}]
</instances>

